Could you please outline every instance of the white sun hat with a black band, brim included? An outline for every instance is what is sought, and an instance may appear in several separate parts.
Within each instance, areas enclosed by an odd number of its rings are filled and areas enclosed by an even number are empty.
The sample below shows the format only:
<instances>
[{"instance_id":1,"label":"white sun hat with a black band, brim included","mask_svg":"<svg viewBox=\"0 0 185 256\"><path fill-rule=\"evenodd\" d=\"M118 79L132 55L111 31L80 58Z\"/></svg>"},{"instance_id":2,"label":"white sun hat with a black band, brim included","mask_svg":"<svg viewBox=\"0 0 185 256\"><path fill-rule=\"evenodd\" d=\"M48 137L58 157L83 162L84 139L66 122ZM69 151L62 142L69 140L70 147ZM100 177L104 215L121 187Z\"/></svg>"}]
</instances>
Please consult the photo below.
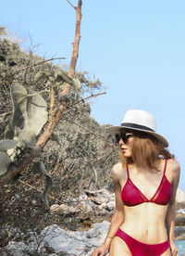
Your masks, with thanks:
<instances>
[{"instance_id":1,"label":"white sun hat with a black band, brim included","mask_svg":"<svg viewBox=\"0 0 185 256\"><path fill-rule=\"evenodd\" d=\"M106 128L106 131L109 134L119 134L120 130L124 128L152 134L163 144L164 147L168 147L166 138L160 134L156 134L156 121L154 116L149 112L131 109L126 112L120 126L110 126Z\"/></svg>"}]
</instances>

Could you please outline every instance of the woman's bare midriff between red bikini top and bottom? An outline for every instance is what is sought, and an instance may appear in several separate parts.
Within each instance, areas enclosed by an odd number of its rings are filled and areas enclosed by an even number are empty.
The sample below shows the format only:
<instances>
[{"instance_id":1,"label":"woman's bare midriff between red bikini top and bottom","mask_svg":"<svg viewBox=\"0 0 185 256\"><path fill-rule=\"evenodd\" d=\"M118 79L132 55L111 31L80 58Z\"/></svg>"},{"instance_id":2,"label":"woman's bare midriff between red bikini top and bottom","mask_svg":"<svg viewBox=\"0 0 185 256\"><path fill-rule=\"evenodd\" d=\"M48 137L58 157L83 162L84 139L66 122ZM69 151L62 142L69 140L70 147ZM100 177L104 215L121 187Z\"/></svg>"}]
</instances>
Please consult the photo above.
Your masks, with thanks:
<instances>
[{"instance_id":1,"label":"woman's bare midriff between red bikini top and bottom","mask_svg":"<svg viewBox=\"0 0 185 256\"><path fill-rule=\"evenodd\" d=\"M158 244L167 240L167 205L144 202L137 206L124 206L125 220L120 229L145 244Z\"/></svg>"}]
</instances>

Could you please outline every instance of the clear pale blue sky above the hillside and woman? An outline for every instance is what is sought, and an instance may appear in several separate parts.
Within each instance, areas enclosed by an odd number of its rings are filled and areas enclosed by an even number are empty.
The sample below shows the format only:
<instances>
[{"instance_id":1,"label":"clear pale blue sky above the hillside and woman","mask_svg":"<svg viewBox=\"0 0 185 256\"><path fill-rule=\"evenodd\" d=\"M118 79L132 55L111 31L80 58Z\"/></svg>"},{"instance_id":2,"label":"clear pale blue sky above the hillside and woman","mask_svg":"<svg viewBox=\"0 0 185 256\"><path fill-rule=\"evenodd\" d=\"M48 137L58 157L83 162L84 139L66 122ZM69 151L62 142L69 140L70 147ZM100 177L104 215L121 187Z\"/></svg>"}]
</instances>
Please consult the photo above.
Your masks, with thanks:
<instances>
[{"instance_id":1,"label":"clear pale blue sky above the hillside and woman","mask_svg":"<svg viewBox=\"0 0 185 256\"><path fill-rule=\"evenodd\" d=\"M71 0L76 5L77 0ZM144 109L181 165L185 190L185 1L83 0L78 70L100 78L106 95L91 100L101 124L120 124L128 109ZM75 11L66 0L6 0L0 23L39 45L36 54L69 63ZM29 40L31 37L31 41Z\"/></svg>"}]
</instances>

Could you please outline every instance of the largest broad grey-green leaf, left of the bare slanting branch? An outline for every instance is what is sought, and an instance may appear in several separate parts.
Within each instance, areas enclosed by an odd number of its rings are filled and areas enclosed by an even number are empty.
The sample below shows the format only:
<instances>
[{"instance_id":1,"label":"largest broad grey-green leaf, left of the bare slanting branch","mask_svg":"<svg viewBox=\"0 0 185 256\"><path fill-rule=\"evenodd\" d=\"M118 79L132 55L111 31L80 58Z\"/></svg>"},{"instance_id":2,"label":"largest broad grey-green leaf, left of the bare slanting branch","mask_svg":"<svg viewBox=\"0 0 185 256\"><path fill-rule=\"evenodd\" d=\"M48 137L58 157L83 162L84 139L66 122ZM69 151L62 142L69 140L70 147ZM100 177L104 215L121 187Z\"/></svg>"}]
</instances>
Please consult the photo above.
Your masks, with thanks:
<instances>
[{"instance_id":1,"label":"largest broad grey-green leaf, left of the bare slanting branch","mask_svg":"<svg viewBox=\"0 0 185 256\"><path fill-rule=\"evenodd\" d=\"M18 147L24 147L35 141L47 122L47 105L42 96L34 91L28 95L19 83L12 85L11 97L13 116L6 129L6 138L16 138Z\"/></svg>"}]
</instances>

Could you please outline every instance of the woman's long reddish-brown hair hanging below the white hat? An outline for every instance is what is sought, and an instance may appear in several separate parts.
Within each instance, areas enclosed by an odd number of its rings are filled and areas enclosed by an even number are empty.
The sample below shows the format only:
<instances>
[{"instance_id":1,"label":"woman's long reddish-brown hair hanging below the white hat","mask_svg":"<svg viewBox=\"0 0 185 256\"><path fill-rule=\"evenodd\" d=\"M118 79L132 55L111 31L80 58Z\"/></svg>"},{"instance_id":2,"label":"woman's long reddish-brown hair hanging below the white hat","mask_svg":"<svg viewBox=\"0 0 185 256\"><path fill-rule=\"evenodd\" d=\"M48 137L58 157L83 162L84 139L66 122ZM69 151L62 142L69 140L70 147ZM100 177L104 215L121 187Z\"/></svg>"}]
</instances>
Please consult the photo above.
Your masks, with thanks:
<instances>
[{"instance_id":1,"label":"woman's long reddish-brown hair hanging below the white hat","mask_svg":"<svg viewBox=\"0 0 185 256\"><path fill-rule=\"evenodd\" d=\"M130 158L125 158L123 152L119 152L119 160L125 166L127 163L134 163L139 167L157 170L158 160L174 159L174 155L157 140L153 135L129 131L133 133L134 141Z\"/></svg>"}]
</instances>

